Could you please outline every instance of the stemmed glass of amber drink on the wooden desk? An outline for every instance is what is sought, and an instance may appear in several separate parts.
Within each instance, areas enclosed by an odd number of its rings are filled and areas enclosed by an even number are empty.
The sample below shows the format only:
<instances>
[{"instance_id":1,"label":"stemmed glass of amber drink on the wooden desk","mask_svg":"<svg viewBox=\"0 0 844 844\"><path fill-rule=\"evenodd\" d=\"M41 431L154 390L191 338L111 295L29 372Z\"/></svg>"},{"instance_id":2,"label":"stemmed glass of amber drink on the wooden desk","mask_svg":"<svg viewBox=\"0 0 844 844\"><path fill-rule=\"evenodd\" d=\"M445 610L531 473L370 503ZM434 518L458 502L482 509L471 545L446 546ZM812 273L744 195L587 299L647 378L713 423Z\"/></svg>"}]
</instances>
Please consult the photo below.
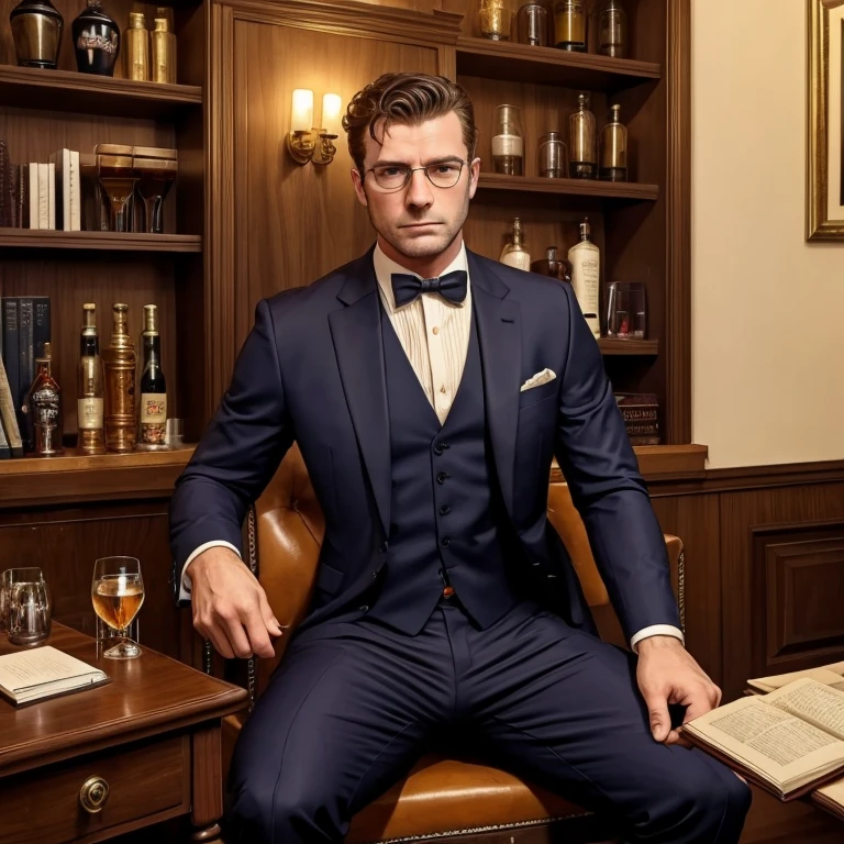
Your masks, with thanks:
<instances>
[{"instance_id":1,"label":"stemmed glass of amber drink on the wooden desk","mask_svg":"<svg viewBox=\"0 0 844 844\"><path fill-rule=\"evenodd\" d=\"M134 659L143 653L126 629L144 602L144 579L135 557L102 557L93 564L93 611L116 631L120 641L103 652L109 659Z\"/></svg>"}]
</instances>

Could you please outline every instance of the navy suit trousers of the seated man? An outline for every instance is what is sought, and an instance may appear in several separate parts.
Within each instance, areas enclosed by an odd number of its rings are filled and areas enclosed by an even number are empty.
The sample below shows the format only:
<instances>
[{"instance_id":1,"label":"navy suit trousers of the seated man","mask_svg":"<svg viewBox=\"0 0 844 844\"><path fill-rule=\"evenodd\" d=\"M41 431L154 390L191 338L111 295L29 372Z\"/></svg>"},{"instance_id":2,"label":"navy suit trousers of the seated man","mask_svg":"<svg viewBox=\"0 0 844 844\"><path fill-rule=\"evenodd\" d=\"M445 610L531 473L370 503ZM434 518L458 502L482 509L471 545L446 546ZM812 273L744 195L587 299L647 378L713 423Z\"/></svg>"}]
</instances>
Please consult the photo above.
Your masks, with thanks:
<instances>
[{"instance_id":1,"label":"navy suit trousers of the seated man","mask_svg":"<svg viewBox=\"0 0 844 844\"><path fill-rule=\"evenodd\" d=\"M749 808L719 762L654 741L632 654L529 601L486 630L441 601L415 636L358 612L293 638L235 748L226 840L342 842L449 732L630 842L731 844Z\"/></svg>"}]
</instances>

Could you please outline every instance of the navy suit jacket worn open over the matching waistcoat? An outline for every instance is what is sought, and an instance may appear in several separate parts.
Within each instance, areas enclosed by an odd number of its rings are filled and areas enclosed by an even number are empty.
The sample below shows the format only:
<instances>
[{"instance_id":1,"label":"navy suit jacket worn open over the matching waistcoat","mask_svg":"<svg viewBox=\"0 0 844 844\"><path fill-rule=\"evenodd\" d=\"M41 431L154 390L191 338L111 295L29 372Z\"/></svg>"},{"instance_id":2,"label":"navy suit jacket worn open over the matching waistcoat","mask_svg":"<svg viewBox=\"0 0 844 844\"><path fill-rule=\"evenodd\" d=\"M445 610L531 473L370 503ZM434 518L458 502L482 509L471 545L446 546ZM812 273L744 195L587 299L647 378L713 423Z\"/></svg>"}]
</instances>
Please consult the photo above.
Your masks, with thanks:
<instances>
[{"instance_id":1,"label":"navy suit jacket worn open over the matching waistcoat","mask_svg":"<svg viewBox=\"0 0 844 844\"><path fill-rule=\"evenodd\" d=\"M509 519L555 609L592 631L571 562L546 519L552 456L569 484L628 637L679 626L647 489L567 285L467 252L488 441ZM544 368L556 379L521 385ZM387 558L390 436L371 249L314 284L258 302L232 382L178 479L175 575L198 546L242 547L242 523L293 441L325 515L318 588L302 628L373 585Z\"/></svg>"}]
</instances>

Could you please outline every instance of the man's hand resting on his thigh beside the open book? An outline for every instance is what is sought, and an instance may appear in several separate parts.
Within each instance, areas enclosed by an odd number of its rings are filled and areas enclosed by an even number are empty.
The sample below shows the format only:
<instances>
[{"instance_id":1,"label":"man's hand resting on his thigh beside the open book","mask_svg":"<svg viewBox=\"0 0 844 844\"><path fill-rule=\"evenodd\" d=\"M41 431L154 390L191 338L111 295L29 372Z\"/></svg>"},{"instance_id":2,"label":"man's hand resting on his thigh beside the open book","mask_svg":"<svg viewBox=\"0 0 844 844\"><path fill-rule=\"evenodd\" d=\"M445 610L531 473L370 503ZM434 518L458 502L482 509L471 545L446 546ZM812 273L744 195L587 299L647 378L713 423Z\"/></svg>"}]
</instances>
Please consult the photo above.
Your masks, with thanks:
<instances>
[{"instance_id":1,"label":"man's hand resting on his thigh beside the open book","mask_svg":"<svg viewBox=\"0 0 844 844\"><path fill-rule=\"evenodd\" d=\"M687 708L682 719L685 724L721 702L721 689L674 636L651 636L638 643L636 679L657 742L676 744L682 741L679 732L671 730L669 703Z\"/></svg>"}]
</instances>

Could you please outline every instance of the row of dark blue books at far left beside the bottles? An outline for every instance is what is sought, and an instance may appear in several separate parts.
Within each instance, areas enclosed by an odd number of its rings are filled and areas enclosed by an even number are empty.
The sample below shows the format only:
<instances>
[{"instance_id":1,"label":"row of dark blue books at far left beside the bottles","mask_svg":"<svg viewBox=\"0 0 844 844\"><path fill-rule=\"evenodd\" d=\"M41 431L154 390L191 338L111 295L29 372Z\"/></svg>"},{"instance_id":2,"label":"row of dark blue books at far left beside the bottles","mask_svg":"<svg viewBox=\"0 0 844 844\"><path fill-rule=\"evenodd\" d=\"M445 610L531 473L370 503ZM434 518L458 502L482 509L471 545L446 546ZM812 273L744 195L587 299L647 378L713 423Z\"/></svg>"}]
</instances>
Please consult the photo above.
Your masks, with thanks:
<instances>
[{"instance_id":1,"label":"row of dark blue books at far left beside the bottles","mask_svg":"<svg viewBox=\"0 0 844 844\"><path fill-rule=\"evenodd\" d=\"M35 379L35 356L51 341L49 298L0 299L0 459L23 456L23 406Z\"/></svg>"}]
</instances>

